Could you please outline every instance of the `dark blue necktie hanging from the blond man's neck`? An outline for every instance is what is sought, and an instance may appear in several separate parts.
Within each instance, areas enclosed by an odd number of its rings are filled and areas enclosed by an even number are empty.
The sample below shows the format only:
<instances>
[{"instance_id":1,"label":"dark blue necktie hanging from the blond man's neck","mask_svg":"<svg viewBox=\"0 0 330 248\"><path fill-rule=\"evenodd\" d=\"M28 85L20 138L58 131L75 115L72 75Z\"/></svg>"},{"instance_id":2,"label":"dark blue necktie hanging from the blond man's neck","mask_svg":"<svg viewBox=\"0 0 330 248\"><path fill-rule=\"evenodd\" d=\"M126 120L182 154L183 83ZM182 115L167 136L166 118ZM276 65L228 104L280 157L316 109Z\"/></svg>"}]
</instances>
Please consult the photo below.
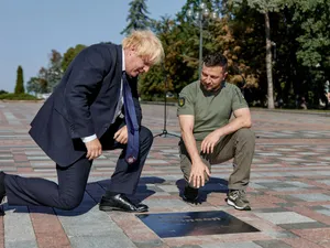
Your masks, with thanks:
<instances>
[{"instance_id":1,"label":"dark blue necktie hanging from the blond man's neck","mask_svg":"<svg viewBox=\"0 0 330 248\"><path fill-rule=\"evenodd\" d=\"M136 112L134 101L132 98L132 91L127 78L125 72L122 74L123 80L123 99L124 99L124 112L125 122L128 127L129 141L127 147L125 160L128 163L134 163L139 157L139 123L136 119Z\"/></svg>"}]
</instances>

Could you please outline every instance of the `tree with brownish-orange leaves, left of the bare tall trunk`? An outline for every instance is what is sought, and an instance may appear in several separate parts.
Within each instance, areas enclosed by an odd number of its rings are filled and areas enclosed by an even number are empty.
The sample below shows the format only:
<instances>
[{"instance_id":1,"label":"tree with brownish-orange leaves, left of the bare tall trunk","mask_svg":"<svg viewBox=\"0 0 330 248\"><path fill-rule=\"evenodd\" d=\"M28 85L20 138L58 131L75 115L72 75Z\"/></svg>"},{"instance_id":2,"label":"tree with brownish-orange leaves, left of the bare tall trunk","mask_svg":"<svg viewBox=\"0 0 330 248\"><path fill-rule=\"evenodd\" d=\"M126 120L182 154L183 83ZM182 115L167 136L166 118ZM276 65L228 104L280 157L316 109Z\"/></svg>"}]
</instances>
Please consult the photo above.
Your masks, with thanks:
<instances>
[{"instance_id":1,"label":"tree with brownish-orange leaves, left of the bare tall trunk","mask_svg":"<svg viewBox=\"0 0 330 248\"><path fill-rule=\"evenodd\" d=\"M222 11L215 43L228 57L227 80L241 87L248 103L264 103L267 87L263 15L251 9L246 1L228 4ZM245 84L244 84L245 83Z\"/></svg>"}]
</instances>

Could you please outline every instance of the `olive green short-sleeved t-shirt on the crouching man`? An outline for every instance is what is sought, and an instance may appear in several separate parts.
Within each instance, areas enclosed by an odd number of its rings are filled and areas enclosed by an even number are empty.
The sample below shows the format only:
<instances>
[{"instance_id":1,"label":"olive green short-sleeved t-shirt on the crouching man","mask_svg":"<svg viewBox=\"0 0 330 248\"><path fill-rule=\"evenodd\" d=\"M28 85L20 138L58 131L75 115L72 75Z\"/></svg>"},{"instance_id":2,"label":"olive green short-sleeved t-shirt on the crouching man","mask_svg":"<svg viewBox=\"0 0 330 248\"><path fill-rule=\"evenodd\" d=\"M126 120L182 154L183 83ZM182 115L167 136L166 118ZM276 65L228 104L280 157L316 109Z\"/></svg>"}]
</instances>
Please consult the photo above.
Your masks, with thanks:
<instances>
[{"instance_id":1,"label":"olive green short-sleeved t-shirt on the crouching man","mask_svg":"<svg viewBox=\"0 0 330 248\"><path fill-rule=\"evenodd\" d=\"M213 130L226 126L231 114L248 104L233 84L222 83L217 93L205 90L199 80L187 85L179 94L177 115L195 116L194 137L204 140Z\"/></svg>"}]
</instances>

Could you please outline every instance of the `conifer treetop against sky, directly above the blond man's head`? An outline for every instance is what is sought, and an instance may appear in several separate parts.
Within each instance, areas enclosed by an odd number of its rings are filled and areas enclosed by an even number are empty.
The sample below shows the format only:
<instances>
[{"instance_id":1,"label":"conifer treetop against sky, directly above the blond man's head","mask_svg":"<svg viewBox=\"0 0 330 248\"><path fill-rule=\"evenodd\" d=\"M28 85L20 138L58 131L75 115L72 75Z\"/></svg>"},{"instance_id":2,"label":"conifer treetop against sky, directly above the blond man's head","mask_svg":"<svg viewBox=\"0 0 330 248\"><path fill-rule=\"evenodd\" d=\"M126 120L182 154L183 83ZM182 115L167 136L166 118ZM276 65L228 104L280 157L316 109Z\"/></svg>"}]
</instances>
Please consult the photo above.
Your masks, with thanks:
<instances>
[{"instance_id":1,"label":"conifer treetop against sky, directly above the blond man's head","mask_svg":"<svg viewBox=\"0 0 330 248\"><path fill-rule=\"evenodd\" d=\"M132 30L152 28L154 21L147 17L150 12L147 11L146 0L133 0L130 6L127 18L129 24L121 34L129 34Z\"/></svg>"}]
</instances>

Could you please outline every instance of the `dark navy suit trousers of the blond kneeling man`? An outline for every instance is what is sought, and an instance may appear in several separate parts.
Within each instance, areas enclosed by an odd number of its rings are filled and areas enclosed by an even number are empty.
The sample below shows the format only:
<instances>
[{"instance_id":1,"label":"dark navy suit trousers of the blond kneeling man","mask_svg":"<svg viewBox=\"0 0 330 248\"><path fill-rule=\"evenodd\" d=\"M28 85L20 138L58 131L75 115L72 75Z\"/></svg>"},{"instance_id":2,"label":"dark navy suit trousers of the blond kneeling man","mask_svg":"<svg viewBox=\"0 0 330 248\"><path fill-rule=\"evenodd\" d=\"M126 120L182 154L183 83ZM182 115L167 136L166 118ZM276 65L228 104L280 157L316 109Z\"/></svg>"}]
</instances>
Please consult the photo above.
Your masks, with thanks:
<instances>
[{"instance_id":1,"label":"dark navy suit trousers of the blond kneeling man","mask_svg":"<svg viewBox=\"0 0 330 248\"><path fill-rule=\"evenodd\" d=\"M124 148L118 159L116 171L111 176L109 191L133 194L135 193L144 162L151 149L153 136L147 128L141 127L140 158L136 163L128 164L124 160L125 145L120 145L113 141L114 131L107 131L100 139L105 150ZM109 138L108 141L107 138ZM9 205L42 205L73 209L82 201L91 164L92 161L89 161L85 155L66 168L56 164L58 184L38 177L22 177L7 174L4 186L8 203Z\"/></svg>"}]
</instances>

